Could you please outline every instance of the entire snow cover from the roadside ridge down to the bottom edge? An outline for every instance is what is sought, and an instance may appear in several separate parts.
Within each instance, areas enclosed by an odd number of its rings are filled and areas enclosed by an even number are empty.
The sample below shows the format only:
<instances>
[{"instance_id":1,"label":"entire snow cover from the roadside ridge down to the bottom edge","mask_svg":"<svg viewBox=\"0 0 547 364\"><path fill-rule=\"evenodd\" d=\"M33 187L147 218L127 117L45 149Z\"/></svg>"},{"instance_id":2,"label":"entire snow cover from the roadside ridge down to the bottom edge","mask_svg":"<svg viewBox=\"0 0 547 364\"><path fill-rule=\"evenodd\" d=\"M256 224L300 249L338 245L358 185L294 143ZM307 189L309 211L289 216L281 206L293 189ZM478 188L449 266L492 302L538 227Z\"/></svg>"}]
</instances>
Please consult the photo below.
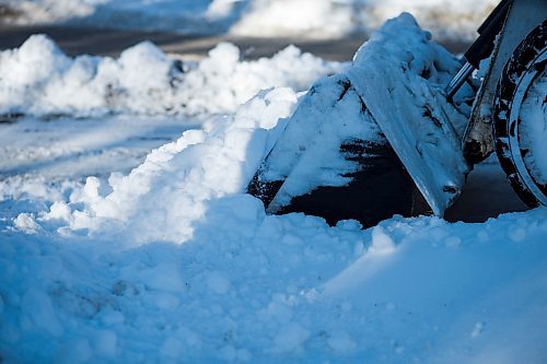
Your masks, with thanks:
<instances>
[{"instance_id":1,"label":"entire snow cover from the roadside ridge down to the bottom edge","mask_svg":"<svg viewBox=\"0 0 547 364\"><path fill-rule=\"evenodd\" d=\"M24 47L49 55L45 73L14 61ZM0 63L27 82L1 91L0 362L545 362L545 208L363 230L270 215L245 193L312 79L347 66L294 48L246 62L221 45L229 72L211 52L175 67L174 87L175 61L151 44L117 60L71 59L42 36L22 48ZM125 60L162 72L141 84ZM313 74L291 80L280 64L294 61ZM119 72L97 79L101 64ZM124 92L55 104L58 82ZM242 83L257 94L234 95ZM162 97L186 106L173 116Z\"/></svg>"}]
</instances>

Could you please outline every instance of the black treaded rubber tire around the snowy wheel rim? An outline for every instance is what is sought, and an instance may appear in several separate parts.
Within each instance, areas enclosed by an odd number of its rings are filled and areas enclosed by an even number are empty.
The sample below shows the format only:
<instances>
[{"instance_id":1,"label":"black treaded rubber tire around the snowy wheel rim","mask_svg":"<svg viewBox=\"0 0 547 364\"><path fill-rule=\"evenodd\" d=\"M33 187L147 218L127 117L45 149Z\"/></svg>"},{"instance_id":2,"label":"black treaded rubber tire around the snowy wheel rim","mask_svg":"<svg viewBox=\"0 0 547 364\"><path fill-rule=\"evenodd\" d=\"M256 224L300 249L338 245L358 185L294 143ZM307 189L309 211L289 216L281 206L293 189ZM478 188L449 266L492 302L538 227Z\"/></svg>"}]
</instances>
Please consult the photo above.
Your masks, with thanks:
<instances>
[{"instance_id":1,"label":"black treaded rubber tire around the snowy wheel rim","mask_svg":"<svg viewBox=\"0 0 547 364\"><path fill-rule=\"evenodd\" d=\"M538 59L545 58L545 52L547 51L546 39L547 21L544 21L515 48L498 82L493 102L493 139L496 153L516 195L532 208L545 204L547 200L547 189L545 185L540 185L532 177L523 162L519 163L519 160L522 161L528 150L521 145L516 146L521 118L515 118L514 115L515 111L517 113L516 116L520 114L520 105L522 105L522 103L516 102L516 96L523 80L533 77L529 84L524 84L524 86L526 86L526 91L522 98L524 101L527 96L529 86L533 85L534 82L539 79L538 75L545 71L546 62L544 60L538 61ZM532 72L536 74L531 75ZM516 105L513 105L514 103Z\"/></svg>"}]
</instances>

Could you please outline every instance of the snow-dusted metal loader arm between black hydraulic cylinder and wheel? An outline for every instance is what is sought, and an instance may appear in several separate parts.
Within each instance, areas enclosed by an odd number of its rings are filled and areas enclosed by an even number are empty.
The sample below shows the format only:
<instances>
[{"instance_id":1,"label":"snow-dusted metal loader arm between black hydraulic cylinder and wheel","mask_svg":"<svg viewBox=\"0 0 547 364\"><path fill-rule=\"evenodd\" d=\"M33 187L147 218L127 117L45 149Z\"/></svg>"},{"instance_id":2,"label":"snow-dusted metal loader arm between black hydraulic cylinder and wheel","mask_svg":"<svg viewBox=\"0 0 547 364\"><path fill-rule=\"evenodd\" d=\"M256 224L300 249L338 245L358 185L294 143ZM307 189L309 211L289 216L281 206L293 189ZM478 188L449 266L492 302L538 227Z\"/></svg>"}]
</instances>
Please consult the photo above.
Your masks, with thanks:
<instances>
[{"instance_id":1,"label":"snow-dusted metal loader arm between black hydraulic cylinder and wheel","mask_svg":"<svg viewBox=\"0 0 547 364\"><path fill-rule=\"evenodd\" d=\"M463 139L465 158L476 164L493 150L492 105L503 67L516 46L547 17L547 1L509 1L504 25L499 33L481 87L475 99L472 117ZM487 22L485 22L487 23Z\"/></svg>"}]
</instances>

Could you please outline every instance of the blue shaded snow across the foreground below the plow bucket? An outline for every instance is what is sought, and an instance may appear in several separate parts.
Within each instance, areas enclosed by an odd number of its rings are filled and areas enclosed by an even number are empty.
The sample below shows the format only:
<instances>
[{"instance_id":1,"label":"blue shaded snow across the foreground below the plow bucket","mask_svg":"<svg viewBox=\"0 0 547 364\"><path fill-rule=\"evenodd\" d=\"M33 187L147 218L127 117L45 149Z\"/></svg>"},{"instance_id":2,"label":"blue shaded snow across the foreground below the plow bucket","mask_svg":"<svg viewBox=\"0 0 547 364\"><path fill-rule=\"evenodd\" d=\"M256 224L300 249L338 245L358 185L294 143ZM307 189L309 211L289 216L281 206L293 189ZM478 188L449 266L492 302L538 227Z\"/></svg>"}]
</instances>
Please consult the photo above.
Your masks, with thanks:
<instances>
[{"instance_id":1,"label":"blue shaded snow across the foreground below the plow bucket","mask_svg":"<svg viewBox=\"0 0 547 364\"><path fill-rule=\"evenodd\" d=\"M186 244L124 249L12 233L1 245L0 348L8 362L114 352L120 362L540 363L545 216L394 218L361 231L263 215L248 234L247 220L223 215ZM513 225L528 232L525 240L507 238ZM395 249L372 249L379 228ZM462 244L445 246L440 232ZM287 234L302 244L280 244ZM28 274L38 269L47 275Z\"/></svg>"}]
</instances>

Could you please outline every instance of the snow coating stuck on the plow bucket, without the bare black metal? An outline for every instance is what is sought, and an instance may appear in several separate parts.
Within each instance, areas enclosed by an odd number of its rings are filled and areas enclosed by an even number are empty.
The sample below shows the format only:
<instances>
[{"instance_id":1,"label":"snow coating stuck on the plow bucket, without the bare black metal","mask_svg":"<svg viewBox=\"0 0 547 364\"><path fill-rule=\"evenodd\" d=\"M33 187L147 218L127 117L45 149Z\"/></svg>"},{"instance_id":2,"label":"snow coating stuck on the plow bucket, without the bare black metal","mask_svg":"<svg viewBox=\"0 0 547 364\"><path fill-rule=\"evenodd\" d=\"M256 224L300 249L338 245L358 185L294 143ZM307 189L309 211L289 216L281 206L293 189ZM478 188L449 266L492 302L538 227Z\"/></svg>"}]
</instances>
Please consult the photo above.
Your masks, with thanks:
<instances>
[{"instance_id":1,"label":"snow coating stuck on the plow bucket, without the bare black metal","mask_svg":"<svg viewBox=\"0 0 547 364\"><path fill-rule=\"evenodd\" d=\"M473 92L465 86L456 106L443 94L458 67L410 14L387 21L346 70L318 80L302 97L254 179L256 196L274 195L266 203L275 212L319 186L346 186L369 162L345 157L342 145L388 141L442 215L468 172L461 140L469 106L462 99Z\"/></svg>"}]
</instances>

